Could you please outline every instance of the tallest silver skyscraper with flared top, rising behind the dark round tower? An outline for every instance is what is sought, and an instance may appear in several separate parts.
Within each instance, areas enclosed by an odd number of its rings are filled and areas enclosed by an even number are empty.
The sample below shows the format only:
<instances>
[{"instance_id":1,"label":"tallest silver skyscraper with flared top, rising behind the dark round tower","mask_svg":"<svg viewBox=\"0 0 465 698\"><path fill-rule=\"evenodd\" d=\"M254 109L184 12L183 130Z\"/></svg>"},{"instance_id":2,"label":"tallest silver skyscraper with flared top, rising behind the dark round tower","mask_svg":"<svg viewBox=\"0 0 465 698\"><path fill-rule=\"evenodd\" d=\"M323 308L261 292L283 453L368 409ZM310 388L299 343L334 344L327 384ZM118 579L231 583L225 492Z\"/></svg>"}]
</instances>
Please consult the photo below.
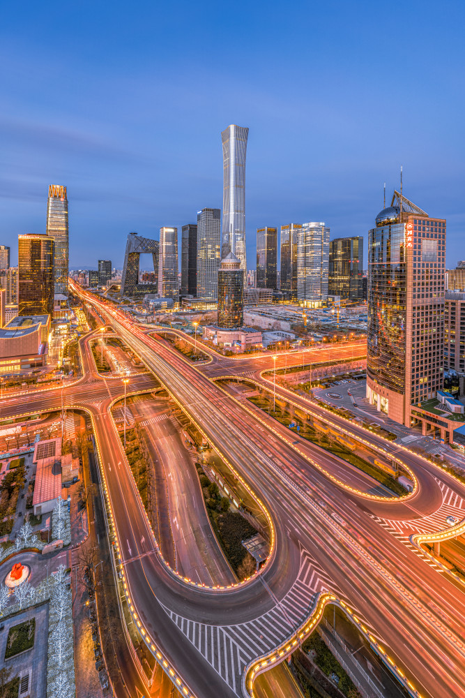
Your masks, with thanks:
<instances>
[{"instance_id":1,"label":"tallest silver skyscraper with flared top, rising behind the dark round tower","mask_svg":"<svg viewBox=\"0 0 465 698\"><path fill-rule=\"evenodd\" d=\"M245 256L245 155L249 129L231 124L222 131L223 232L221 258L232 252L247 270Z\"/></svg>"}]
</instances>

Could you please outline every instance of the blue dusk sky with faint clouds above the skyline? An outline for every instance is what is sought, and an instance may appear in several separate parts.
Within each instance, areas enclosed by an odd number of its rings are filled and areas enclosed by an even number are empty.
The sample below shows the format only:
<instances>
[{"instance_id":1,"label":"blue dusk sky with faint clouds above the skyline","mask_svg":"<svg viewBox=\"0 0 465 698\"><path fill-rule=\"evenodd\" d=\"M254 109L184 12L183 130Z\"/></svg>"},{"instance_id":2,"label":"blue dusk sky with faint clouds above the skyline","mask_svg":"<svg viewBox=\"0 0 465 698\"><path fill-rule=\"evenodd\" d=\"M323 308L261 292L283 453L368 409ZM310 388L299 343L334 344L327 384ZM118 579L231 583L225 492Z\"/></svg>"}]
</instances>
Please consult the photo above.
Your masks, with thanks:
<instances>
[{"instance_id":1,"label":"blue dusk sky with faint clouds above the skyline","mask_svg":"<svg viewBox=\"0 0 465 698\"><path fill-rule=\"evenodd\" d=\"M70 265L121 266L130 230L222 207L220 132L250 128L247 259L261 225L364 235L404 193L465 258L465 3L25 0L0 21L0 244L43 232L66 184ZM365 253L366 256L366 253Z\"/></svg>"}]
</instances>

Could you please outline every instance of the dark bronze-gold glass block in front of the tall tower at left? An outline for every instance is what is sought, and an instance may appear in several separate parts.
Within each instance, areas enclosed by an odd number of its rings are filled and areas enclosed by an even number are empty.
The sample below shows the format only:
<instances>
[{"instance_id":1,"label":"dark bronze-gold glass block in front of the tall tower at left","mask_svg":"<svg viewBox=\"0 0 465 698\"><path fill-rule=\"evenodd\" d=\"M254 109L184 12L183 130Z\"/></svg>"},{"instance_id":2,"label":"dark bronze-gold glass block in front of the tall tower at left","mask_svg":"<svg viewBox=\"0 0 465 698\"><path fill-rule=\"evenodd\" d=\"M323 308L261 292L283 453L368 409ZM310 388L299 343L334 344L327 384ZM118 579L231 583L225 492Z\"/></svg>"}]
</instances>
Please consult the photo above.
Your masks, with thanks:
<instances>
[{"instance_id":1,"label":"dark bronze-gold glass block in front of the tall tower at left","mask_svg":"<svg viewBox=\"0 0 465 698\"><path fill-rule=\"evenodd\" d=\"M55 243L48 235L18 235L18 315L53 317Z\"/></svg>"}]
</instances>

